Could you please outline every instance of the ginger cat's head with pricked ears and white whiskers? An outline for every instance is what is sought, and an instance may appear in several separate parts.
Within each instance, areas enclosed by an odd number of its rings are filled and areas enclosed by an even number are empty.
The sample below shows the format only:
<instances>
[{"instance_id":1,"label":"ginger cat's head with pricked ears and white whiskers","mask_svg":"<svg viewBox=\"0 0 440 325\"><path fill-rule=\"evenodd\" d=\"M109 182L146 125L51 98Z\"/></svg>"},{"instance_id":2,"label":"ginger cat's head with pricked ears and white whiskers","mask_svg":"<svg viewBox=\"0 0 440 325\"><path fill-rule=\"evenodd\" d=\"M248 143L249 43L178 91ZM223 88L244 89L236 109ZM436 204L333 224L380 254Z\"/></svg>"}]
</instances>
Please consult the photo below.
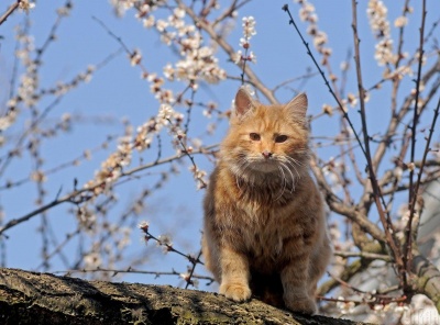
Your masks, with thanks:
<instances>
[{"instance_id":1,"label":"ginger cat's head with pricked ears and white whiskers","mask_svg":"<svg viewBox=\"0 0 440 325\"><path fill-rule=\"evenodd\" d=\"M264 105L244 88L235 96L222 159L237 175L274 173L299 177L308 166L307 96L287 104Z\"/></svg>"}]
</instances>

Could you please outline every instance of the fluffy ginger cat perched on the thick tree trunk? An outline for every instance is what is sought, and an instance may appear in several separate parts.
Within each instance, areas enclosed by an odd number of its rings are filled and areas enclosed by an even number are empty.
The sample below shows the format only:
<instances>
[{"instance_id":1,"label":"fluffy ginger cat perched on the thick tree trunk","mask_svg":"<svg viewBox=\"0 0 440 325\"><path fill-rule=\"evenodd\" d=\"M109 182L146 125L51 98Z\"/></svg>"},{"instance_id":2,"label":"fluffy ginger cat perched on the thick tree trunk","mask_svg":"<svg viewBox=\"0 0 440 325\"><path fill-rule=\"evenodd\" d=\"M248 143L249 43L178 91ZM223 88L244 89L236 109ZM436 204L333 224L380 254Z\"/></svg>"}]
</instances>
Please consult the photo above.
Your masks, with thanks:
<instances>
[{"instance_id":1,"label":"fluffy ginger cat perched on the thick tree trunk","mask_svg":"<svg viewBox=\"0 0 440 325\"><path fill-rule=\"evenodd\" d=\"M307 97L264 105L241 88L205 198L202 251L220 293L314 314L329 262L321 195L309 176Z\"/></svg>"}]
</instances>

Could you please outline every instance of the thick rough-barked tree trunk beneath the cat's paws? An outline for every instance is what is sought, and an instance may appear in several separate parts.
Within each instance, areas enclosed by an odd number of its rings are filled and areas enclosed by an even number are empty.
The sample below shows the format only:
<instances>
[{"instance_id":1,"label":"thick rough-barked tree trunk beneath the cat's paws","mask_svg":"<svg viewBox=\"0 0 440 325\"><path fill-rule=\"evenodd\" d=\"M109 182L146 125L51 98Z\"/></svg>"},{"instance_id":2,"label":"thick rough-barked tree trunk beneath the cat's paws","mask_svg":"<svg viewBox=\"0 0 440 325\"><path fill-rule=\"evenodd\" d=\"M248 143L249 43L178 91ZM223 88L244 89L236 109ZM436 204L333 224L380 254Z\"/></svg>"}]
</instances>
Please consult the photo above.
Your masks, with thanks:
<instances>
[{"instance_id":1,"label":"thick rough-barked tree trunk beneath the cat's paws","mask_svg":"<svg viewBox=\"0 0 440 325\"><path fill-rule=\"evenodd\" d=\"M355 324L166 285L0 269L0 324ZM358 323L359 324L359 323Z\"/></svg>"}]
</instances>

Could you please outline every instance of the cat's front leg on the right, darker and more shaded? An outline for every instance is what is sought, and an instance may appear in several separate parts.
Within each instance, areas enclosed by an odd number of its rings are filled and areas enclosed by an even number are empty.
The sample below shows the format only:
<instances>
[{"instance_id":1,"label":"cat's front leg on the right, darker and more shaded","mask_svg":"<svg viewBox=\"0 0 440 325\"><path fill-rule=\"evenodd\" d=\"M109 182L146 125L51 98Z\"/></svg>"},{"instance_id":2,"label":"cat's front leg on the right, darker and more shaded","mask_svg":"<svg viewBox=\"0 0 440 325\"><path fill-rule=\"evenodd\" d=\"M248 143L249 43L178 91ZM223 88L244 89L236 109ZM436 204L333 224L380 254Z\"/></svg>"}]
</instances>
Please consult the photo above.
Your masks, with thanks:
<instances>
[{"instance_id":1,"label":"cat's front leg on the right, darker and more shaded","mask_svg":"<svg viewBox=\"0 0 440 325\"><path fill-rule=\"evenodd\" d=\"M280 273L283 282L283 299L286 307L293 312L315 314L317 306L315 298L308 290L308 260L306 257L295 258Z\"/></svg>"}]
</instances>

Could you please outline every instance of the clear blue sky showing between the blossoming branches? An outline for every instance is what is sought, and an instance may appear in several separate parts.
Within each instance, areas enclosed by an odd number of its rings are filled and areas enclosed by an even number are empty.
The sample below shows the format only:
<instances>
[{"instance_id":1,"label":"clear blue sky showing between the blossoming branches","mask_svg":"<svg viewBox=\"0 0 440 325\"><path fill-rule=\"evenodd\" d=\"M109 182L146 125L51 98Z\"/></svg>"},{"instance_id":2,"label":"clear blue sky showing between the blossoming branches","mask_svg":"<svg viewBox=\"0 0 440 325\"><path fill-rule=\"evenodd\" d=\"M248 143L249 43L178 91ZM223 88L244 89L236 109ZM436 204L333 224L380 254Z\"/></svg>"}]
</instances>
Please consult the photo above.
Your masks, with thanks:
<instances>
[{"instance_id":1,"label":"clear blue sky showing between the blossoming branches","mask_svg":"<svg viewBox=\"0 0 440 325\"><path fill-rule=\"evenodd\" d=\"M12 1L10 1L12 2ZM59 3L59 1L56 1ZM220 4L229 1L219 1ZM239 22L235 24L228 41L239 49L239 40L241 37L242 16L253 15L256 20L257 34L252 38L252 51L257 56L256 65L252 68L260 78L270 87L275 87L280 82L306 72L307 68L316 71L306 49L299 41L298 35L288 24L288 16L282 10L282 5L287 1L251 1L239 11ZM393 24L394 20L400 15L402 7L405 1L385 1L388 5L388 18ZM413 1L416 5L417 1ZM428 23L438 19L440 4L437 0L428 2ZM50 48L43 57L41 74L41 83L51 86L58 80L70 80L79 71L84 71L88 65L96 65L102 61L110 54L120 48L116 42L92 18L96 16L118 36L131 49L140 48L144 58L143 64L151 71L161 74L162 67L169 61L175 61L176 56L169 48L164 46L156 33L145 30L134 18L134 11L128 11L123 18L117 18L108 1L74 1L74 9L70 16L63 20L56 42L51 43ZM298 5L293 1L287 2L294 16L297 18ZM339 74L340 64L345 60L349 49L352 49L352 30L351 30L351 1L314 1L317 14L319 16L319 27L328 33L329 46L333 49L331 63L334 70ZM1 10L6 9L6 3ZM374 56L375 40L370 31L365 14L366 1L360 1L359 5L359 32L361 36L362 63L364 72L364 85L367 87L377 82L382 78L382 68L377 67ZM31 34L35 38L36 46L41 46L47 37L48 32L56 20L55 1L38 1L34 10L29 14L31 20ZM437 15L436 15L437 14ZM24 19L24 13L15 12L9 20L0 26L0 105L1 112L4 111L4 104L8 101L10 77L13 68L14 51L14 26ZM305 32L306 25L296 19L299 29ZM409 18L409 25L406 30L407 38L414 40L406 42L405 47L410 53L416 48L418 42L418 26L420 21L420 9L415 8L415 12ZM394 36L397 30L392 27ZM224 61L224 54L219 54L220 65L224 67L231 76L239 76L240 70L231 63ZM86 116L86 121L79 123L72 132L57 138L47 141L42 146L42 154L45 157L45 168L51 169L64 161L68 161L80 155L85 149L99 146L109 134L122 135L122 120L127 119L134 126L141 125L150 116L157 112L157 102L150 92L148 85L140 78L141 70L131 67L127 54L122 53L116 56L108 65L98 70L91 81L82 85L68 93L53 112L47 116L47 124L51 121L58 120L64 113L77 113ZM300 83L294 83L298 86ZM240 83L228 80L222 85L210 88L209 85L201 85L198 91L198 99L213 100L218 102L219 109L226 111L230 108L231 100ZM183 89L183 83L170 86L175 89ZM409 86L408 86L409 87ZM316 76L311 78L300 90L306 91L309 97L309 113L318 114L323 103L333 104L332 98L326 89L322 79ZM348 91L356 92L354 71L349 74ZM288 101L293 96L292 89L282 88L277 92L277 99L280 102ZM41 109L47 105L48 101L41 103ZM372 133L380 128L384 122L383 114L386 111L386 104L381 98L373 98L369 105L369 122L372 125ZM183 112L185 112L183 110ZM350 112L356 121L356 112ZM98 123L95 117L106 116L106 123ZM386 115L387 116L387 115ZM19 127L25 126L25 119L20 120ZM213 122L213 121L210 121ZM205 133L207 120L200 114L194 114L190 127L190 136L199 136ZM226 122L223 121L215 136L206 138L206 144L218 142L224 134ZM314 135L324 135L338 127L336 119L327 116L314 122ZM168 139L163 137L164 142ZM112 143L114 146L114 142ZM114 147L113 147L114 148ZM62 189L62 193L67 193L73 188L74 178L78 179L79 184L84 184L94 172L99 168L100 162L113 148L107 152L101 150L94 155L90 161L81 164L78 168L68 168L45 183L47 190L46 200L50 202ZM3 150L4 148L0 148ZM4 152L3 152L4 153ZM3 155L3 154L2 154ZM173 155L170 148L164 148L163 156ZM331 150L324 153L328 157L333 156ZM154 149L142 154L144 161L154 160L156 152ZM186 161L186 160L185 160ZM212 162L196 157L196 161L206 170L212 169ZM186 161L188 162L188 161ZM133 162L134 164L134 162ZM202 191L197 191L191 173L188 171L189 165L180 167L180 175L173 176L173 179L147 200L145 215L139 221L147 220L152 224L152 232L155 235L162 233L172 233L176 246L186 251L197 251L199 246L199 231L201 227L201 198ZM0 180L3 183L8 179L16 180L29 176L32 169L32 161L26 155L18 159L13 166L8 169L8 173ZM166 168L155 168L151 172L158 172ZM111 213L118 214L123 211L131 199L136 195L140 189L151 184L154 179L146 176L141 180L124 186L119 192L120 206L112 210ZM21 216L34 209L33 202L36 198L35 184L28 183L11 191L0 193L0 202L6 212L6 220ZM75 218L68 215L67 210L72 208L62 205L50 212L55 234L63 238L64 234L75 227ZM7 242L7 266L23 269L34 269L38 265L41 238L35 228L38 226L37 218L20 225L8 232ZM129 256L139 254L153 254L154 248L146 250L142 243L138 240L141 233L133 229L133 239L128 249ZM77 254L73 246L68 254ZM158 250L158 249L156 249ZM185 268L185 260L168 254L166 257L157 254L152 255L151 260L144 266L144 269L170 270ZM63 270L59 260L54 259L52 270ZM201 270L200 270L201 271ZM153 278L144 276L129 276L124 280L152 282ZM160 282L176 284L178 280L174 278L161 278Z\"/></svg>"}]
</instances>

